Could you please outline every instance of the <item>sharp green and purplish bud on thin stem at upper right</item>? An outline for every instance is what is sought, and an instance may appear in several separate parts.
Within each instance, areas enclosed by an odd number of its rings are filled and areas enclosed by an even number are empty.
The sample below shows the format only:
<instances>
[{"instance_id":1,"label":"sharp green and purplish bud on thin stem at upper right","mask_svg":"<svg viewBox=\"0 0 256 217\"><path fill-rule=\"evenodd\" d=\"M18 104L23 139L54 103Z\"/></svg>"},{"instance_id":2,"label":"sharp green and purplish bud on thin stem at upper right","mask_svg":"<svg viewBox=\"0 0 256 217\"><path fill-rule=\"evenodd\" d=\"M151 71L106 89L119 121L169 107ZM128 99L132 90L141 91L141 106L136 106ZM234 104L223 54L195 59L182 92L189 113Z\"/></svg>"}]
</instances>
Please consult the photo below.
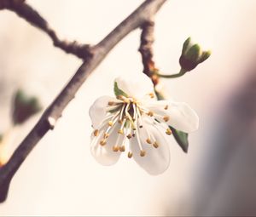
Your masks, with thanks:
<instances>
[{"instance_id":1,"label":"sharp green and purplish bud on thin stem at upper right","mask_svg":"<svg viewBox=\"0 0 256 217\"><path fill-rule=\"evenodd\" d=\"M191 38L183 43L182 54L179 58L179 64L182 71L191 71L201 62L207 60L211 55L211 51L202 51L197 43L192 43Z\"/></svg>"}]
</instances>

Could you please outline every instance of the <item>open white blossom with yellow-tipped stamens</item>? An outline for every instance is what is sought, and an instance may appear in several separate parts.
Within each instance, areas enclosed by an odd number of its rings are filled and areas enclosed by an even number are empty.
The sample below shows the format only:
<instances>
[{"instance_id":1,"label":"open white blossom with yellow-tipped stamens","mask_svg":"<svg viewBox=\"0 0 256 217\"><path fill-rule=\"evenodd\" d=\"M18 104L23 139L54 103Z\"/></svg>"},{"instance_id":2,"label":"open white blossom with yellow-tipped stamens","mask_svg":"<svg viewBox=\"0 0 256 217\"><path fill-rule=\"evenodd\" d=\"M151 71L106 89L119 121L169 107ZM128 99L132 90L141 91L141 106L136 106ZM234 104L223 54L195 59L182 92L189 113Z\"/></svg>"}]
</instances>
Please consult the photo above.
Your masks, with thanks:
<instances>
[{"instance_id":1,"label":"open white blossom with yellow-tipped stamens","mask_svg":"<svg viewBox=\"0 0 256 217\"><path fill-rule=\"evenodd\" d=\"M156 100L150 78L115 79L116 98L102 96L90 106L91 153L103 165L112 165L120 154L144 168L148 174L161 174L169 166L171 129L190 133L198 128L198 117L186 103Z\"/></svg>"}]
</instances>

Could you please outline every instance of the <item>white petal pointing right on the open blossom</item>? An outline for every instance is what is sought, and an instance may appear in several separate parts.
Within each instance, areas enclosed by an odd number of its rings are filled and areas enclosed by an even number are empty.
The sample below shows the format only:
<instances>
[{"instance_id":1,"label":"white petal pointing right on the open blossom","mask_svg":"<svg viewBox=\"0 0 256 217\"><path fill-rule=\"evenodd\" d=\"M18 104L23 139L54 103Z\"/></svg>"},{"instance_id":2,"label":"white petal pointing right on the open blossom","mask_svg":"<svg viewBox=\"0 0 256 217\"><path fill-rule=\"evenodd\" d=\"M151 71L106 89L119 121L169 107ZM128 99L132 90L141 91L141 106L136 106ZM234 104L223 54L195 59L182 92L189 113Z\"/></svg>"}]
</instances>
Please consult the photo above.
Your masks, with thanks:
<instances>
[{"instance_id":1,"label":"white petal pointing right on the open blossom","mask_svg":"<svg viewBox=\"0 0 256 217\"><path fill-rule=\"evenodd\" d=\"M176 128L185 133L191 133L198 129L199 117L195 111L184 102L175 102L172 100L151 101L146 107L149 111L153 111L162 117L169 117L166 124L172 126L172 128Z\"/></svg>"}]
</instances>

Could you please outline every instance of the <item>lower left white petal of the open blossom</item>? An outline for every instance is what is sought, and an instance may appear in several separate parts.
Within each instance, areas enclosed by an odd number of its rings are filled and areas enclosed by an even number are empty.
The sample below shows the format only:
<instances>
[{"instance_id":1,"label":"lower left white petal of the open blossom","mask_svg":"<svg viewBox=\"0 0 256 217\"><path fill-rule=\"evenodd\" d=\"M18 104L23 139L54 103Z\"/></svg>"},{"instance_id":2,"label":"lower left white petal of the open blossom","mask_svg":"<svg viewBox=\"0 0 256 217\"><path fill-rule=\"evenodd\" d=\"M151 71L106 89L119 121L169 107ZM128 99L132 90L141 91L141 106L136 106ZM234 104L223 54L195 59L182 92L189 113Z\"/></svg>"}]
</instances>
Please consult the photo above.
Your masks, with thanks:
<instances>
[{"instance_id":1,"label":"lower left white petal of the open blossom","mask_svg":"<svg viewBox=\"0 0 256 217\"><path fill-rule=\"evenodd\" d=\"M93 157L95 157L98 163L101 163L104 166L111 166L114 163L117 163L120 157L120 151L114 152L112 147L117 142L118 137L118 124L116 124L113 128L113 132L109 135L107 139L107 144L105 146L100 145L100 140L103 138L103 134L106 132L108 127L102 128L97 136L94 134L91 135L91 144L90 144L90 152Z\"/></svg>"}]
</instances>

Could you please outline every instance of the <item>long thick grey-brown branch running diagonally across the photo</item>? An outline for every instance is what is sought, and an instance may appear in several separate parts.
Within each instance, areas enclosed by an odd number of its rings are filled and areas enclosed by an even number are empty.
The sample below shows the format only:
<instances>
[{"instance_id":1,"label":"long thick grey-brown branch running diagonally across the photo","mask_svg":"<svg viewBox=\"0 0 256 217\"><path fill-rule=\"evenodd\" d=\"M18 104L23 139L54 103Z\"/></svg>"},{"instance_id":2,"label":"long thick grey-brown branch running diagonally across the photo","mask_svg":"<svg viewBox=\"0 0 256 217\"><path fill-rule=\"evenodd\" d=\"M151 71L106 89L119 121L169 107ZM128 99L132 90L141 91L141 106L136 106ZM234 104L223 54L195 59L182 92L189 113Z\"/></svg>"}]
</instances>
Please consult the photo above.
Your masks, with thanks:
<instances>
[{"instance_id":1,"label":"long thick grey-brown branch running diagonally across the photo","mask_svg":"<svg viewBox=\"0 0 256 217\"><path fill-rule=\"evenodd\" d=\"M12 2L16 1L12 0ZM46 134L49 129L55 127L55 123L61 117L62 111L66 108L67 104L73 100L76 92L87 77L90 76L90 73L102 62L108 52L113 49L121 39L131 31L143 26L148 20L152 20L154 14L157 13L165 2L166 0L145 1L130 16L122 21L119 26L114 28L107 37L90 49L90 57L84 60L84 63L79 67L79 70L71 78L70 82L67 83L67 86L49 105L46 111L44 111L38 123L20 143L20 146L18 146L12 157L10 157L9 162L0 169L0 201L3 202L6 199L9 183L18 168L20 168L21 163L24 162L30 151L32 151L38 141L43 138L44 134Z\"/></svg>"}]
</instances>

